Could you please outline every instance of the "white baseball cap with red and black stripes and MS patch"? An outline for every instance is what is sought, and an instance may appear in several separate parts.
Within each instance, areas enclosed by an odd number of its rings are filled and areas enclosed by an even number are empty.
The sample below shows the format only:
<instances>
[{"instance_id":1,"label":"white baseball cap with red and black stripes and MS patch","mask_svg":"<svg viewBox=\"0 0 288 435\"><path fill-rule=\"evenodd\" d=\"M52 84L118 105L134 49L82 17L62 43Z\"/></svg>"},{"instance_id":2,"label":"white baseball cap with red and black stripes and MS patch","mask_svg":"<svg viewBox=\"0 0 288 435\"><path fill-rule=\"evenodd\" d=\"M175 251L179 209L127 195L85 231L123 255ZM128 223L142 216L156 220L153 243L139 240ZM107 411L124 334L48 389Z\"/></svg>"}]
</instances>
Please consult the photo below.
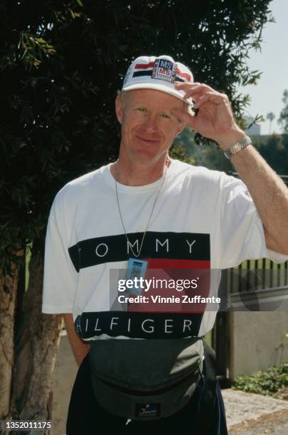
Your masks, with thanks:
<instances>
[{"instance_id":1,"label":"white baseball cap with red and black stripes and MS patch","mask_svg":"<svg viewBox=\"0 0 288 435\"><path fill-rule=\"evenodd\" d=\"M192 105L191 98L184 98L185 91L176 90L175 81L193 83L193 74L185 65L175 62L171 56L140 56L129 66L122 90L159 90Z\"/></svg>"}]
</instances>

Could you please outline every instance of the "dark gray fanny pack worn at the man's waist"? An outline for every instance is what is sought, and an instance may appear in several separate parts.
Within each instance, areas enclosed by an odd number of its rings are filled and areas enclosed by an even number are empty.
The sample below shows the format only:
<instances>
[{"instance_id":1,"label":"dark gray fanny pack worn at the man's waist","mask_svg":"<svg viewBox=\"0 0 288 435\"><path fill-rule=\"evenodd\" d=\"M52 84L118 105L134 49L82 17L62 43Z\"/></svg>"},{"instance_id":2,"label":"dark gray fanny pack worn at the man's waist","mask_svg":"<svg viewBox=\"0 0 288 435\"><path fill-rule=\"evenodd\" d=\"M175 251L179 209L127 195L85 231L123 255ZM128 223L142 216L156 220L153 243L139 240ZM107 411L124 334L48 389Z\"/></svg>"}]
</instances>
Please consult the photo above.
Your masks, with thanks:
<instances>
[{"instance_id":1,"label":"dark gray fanny pack worn at the man's waist","mask_svg":"<svg viewBox=\"0 0 288 435\"><path fill-rule=\"evenodd\" d=\"M183 408L203 369L201 338L91 340L97 402L127 419L169 417Z\"/></svg>"}]
</instances>

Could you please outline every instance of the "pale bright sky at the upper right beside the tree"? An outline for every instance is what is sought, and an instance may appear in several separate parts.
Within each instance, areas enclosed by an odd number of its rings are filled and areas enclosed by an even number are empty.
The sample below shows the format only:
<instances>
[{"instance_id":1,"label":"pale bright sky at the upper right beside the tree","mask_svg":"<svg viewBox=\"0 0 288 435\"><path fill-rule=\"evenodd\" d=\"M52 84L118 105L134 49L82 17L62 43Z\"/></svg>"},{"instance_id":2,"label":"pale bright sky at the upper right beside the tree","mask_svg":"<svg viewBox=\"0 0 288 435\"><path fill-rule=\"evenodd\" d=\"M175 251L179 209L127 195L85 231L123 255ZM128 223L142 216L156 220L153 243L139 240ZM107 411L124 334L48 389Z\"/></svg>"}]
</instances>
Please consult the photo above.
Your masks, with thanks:
<instances>
[{"instance_id":1,"label":"pale bright sky at the upper right beside the tree","mask_svg":"<svg viewBox=\"0 0 288 435\"><path fill-rule=\"evenodd\" d=\"M247 60L252 70L262 71L257 85L240 88L251 97L247 114L255 117L273 112L275 119L271 124L271 132L281 133L277 119L284 104L282 96L288 89L288 0L272 0L270 10L276 23L267 23L262 31L261 52L251 50ZM270 133L270 122L262 122L261 134Z\"/></svg>"}]
</instances>

